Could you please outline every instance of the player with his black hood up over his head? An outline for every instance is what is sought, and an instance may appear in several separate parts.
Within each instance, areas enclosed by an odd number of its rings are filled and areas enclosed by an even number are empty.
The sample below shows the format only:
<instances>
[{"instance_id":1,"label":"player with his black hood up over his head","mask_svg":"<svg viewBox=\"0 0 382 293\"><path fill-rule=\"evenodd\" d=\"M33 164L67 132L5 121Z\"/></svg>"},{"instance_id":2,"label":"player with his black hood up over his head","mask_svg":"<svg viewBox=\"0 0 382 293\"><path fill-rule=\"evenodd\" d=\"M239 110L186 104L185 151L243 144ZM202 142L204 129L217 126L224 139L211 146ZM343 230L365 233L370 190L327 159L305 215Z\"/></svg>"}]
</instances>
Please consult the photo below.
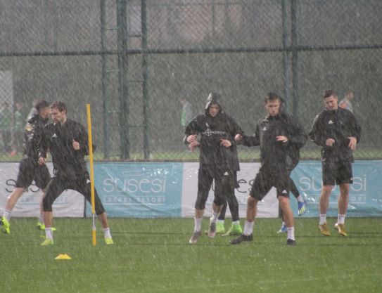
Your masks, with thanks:
<instances>
[{"instance_id":1,"label":"player with his black hood up over his head","mask_svg":"<svg viewBox=\"0 0 382 293\"><path fill-rule=\"evenodd\" d=\"M241 132L235 120L222 111L221 97L218 93L210 93L205 113L198 115L186 127L185 143L189 143L191 150L200 148L198 195L195 203L194 232L189 240L191 244L195 244L200 237L205 202L212 181L215 179L215 197L208 237L215 237L216 221L222 205L227 198L234 196L235 175L239 169L234 137ZM200 141L197 140L198 135Z\"/></svg>"}]
</instances>

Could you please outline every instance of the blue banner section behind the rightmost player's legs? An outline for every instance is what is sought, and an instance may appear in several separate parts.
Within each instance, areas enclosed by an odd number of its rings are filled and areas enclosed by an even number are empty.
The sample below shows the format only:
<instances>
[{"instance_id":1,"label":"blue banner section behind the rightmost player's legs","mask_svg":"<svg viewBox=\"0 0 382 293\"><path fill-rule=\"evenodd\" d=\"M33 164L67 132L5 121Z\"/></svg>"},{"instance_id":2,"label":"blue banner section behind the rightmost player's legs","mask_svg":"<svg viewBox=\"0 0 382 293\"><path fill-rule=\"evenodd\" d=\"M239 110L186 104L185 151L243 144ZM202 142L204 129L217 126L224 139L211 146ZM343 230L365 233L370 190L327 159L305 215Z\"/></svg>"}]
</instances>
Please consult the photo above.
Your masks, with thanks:
<instances>
[{"instance_id":1,"label":"blue banner section behind the rightmost player's legs","mask_svg":"<svg viewBox=\"0 0 382 293\"><path fill-rule=\"evenodd\" d=\"M355 161L352 164L353 183L350 185L347 216L382 216L382 161ZM319 196L321 194L321 162L301 161L293 170L293 181L308 202L305 216L319 216ZM338 185L333 188L329 200L327 216L338 215ZM293 195L291 195L291 198ZM294 214L297 204L291 199Z\"/></svg>"}]
</instances>

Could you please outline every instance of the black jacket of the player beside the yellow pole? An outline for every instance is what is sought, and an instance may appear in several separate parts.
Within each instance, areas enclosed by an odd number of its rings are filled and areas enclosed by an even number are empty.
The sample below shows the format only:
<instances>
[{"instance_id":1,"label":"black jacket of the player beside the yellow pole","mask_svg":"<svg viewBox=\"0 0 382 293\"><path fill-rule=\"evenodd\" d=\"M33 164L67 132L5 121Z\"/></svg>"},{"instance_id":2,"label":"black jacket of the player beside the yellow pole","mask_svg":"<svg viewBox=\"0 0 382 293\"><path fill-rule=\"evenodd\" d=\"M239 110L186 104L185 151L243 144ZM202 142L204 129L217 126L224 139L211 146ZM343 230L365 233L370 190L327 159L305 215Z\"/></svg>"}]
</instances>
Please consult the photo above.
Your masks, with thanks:
<instances>
[{"instance_id":1,"label":"black jacket of the player beside the yellow pole","mask_svg":"<svg viewBox=\"0 0 382 293\"><path fill-rule=\"evenodd\" d=\"M79 150L73 148L73 140L79 143ZM46 157L48 149L52 156L54 176L63 179L89 176L84 159L85 155L89 155L87 131L78 122L67 119L65 124L47 124L39 157Z\"/></svg>"}]
</instances>

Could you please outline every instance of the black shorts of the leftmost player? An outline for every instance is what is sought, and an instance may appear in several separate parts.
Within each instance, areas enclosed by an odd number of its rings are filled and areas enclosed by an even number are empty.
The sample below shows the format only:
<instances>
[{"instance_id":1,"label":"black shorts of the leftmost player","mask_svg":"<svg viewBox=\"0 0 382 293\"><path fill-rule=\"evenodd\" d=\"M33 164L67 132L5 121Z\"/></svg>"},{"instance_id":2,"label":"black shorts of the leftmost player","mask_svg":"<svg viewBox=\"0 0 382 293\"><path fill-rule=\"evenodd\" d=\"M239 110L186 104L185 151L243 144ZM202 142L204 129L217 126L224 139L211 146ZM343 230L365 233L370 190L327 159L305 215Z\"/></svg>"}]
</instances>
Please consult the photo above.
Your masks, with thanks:
<instances>
[{"instance_id":1,"label":"black shorts of the leftmost player","mask_svg":"<svg viewBox=\"0 0 382 293\"><path fill-rule=\"evenodd\" d=\"M32 181L36 186L45 189L49 181L51 181L51 174L49 174L46 165L39 165L37 160L22 159L18 166L18 178L16 179L17 188L27 188Z\"/></svg>"}]
</instances>

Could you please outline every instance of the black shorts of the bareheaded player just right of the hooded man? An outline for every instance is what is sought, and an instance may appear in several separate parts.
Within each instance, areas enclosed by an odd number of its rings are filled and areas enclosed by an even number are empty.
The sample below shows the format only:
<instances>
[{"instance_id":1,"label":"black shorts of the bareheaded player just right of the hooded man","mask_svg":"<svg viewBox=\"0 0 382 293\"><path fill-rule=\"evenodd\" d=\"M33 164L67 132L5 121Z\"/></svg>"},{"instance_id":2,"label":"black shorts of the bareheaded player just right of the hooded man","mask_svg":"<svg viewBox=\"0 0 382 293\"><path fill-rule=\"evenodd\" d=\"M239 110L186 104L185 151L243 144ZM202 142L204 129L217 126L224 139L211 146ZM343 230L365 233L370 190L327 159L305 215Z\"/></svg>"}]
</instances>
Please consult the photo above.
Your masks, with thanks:
<instances>
[{"instance_id":1,"label":"black shorts of the bareheaded player just right of the hooded man","mask_svg":"<svg viewBox=\"0 0 382 293\"><path fill-rule=\"evenodd\" d=\"M276 188L277 196L289 197L289 181L291 172L288 169L267 169L260 167L255 176L250 196L262 200L272 187Z\"/></svg>"}]
</instances>

